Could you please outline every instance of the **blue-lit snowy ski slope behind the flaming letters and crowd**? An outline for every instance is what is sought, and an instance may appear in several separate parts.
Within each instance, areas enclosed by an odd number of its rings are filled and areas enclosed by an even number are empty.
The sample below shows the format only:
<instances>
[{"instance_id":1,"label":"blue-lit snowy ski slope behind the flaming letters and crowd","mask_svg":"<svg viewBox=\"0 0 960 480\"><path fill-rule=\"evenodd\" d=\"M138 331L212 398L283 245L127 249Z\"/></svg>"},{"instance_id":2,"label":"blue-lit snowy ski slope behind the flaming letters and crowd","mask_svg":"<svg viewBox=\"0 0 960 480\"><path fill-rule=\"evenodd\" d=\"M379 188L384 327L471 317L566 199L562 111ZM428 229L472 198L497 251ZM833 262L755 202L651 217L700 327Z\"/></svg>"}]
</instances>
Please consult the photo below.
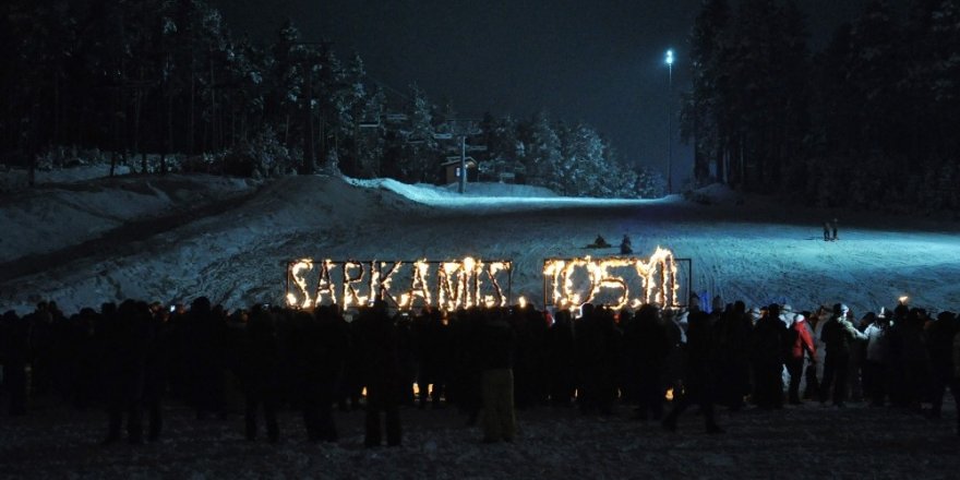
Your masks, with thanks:
<instances>
[{"instance_id":1,"label":"blue-lit snowy ski slope behind the flaming letters and crowd","mask_svg":"<svg viewBox=\"0 0 960 480\"><path fill-rule=\"evenodd\" d=\"M477 188L469 185L471 189ZM512 259L513 293L542 298L542 261L598 235L693 260L693 290L799 309L960 309L960 225L784 207L713 187L716 201L566 199L484 185L489 195L393 180L118 177L40 187L0 202L0 307L53 299L68 312L105 300L279 303L286 262L300 257ZM517 196L519 195L519 196ZM735 200L735 201L734 201ZM821 224L840 219L840 241Z\"/></svg>"}]
</instances>

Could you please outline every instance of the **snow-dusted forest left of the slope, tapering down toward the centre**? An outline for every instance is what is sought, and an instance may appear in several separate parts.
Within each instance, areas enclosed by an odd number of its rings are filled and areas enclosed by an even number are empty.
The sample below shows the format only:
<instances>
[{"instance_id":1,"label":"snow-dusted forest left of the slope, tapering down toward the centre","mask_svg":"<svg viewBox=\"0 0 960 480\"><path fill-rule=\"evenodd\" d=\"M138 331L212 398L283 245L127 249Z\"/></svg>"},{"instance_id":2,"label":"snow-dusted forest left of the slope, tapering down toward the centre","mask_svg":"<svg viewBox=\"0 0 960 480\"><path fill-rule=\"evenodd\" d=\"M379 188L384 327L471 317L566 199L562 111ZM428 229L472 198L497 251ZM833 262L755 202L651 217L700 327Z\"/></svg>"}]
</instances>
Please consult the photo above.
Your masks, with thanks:
<instances>
[{"instance_id":1,"label":"snow-dusted forest left of the slope, tapering down toward the centre","mask_svg":"<svg viewBox=\"0 0 960 480\"><path fill-rule=\"evenodd\" d=\"M259 45L203 0L12 0L0 12L0 156L31 172L96 148L140 172L433 183L465 134L485 147L470 153L481 179L569 195L663 191L590 125L487 115L464 129L448 101L373 82L359 55L343 61L289 21Z\"/></svg>"}]
</instances>

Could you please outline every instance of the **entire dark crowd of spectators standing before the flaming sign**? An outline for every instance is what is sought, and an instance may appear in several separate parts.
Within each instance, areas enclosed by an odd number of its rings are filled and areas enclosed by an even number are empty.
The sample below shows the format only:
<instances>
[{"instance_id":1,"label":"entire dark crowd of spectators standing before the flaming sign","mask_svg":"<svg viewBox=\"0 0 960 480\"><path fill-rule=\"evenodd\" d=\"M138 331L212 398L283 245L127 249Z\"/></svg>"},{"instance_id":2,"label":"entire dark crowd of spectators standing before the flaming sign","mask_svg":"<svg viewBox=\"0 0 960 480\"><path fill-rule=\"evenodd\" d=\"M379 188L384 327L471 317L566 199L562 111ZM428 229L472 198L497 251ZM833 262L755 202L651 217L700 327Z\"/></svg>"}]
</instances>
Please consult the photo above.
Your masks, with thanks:
<instances>
[{"instance_id":1,"label":"entire dark crowd of spectators standing before the flaming sign","mask_svg":"<svg viewBox=\"0 0 960 480\"><path fill-rule=\"evenodd\" d=\"M295 409L308 440L335 442L333 410L362 408L370 447L401 443L403 406L456 406L468 424L482 419L484 442L509 442L515 408L539 406L611 415L629 405L636 419L675 430L699 405L706 431L721 433L715 406L869 401L939 417L948 387L960 404L952 312L901 303L857 320L842 303L803 312L719 297L709 309L698 303L585 304L576 314L532 305L415 313L384 302L228 312L201 297L189 308L127 300L67 316L41 302L0 319L2 395L11 416L26 415L29 397L103 406L104 443L123 437L125 419L125 440L136 444L163 434L164 403L224 417L236 388L249 440L263 418L276 442L277 411Z\"/></svg>"}]
</instances>

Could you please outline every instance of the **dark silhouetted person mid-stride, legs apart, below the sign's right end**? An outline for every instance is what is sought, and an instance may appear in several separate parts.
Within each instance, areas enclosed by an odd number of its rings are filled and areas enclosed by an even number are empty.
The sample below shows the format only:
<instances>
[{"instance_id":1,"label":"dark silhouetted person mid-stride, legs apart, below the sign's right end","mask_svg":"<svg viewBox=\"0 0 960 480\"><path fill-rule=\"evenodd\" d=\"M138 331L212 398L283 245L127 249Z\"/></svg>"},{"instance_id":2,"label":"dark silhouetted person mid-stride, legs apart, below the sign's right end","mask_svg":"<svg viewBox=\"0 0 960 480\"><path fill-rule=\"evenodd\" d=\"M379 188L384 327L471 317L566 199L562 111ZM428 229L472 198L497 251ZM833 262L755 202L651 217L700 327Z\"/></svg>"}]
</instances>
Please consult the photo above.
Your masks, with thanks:
<instances>
[{"instance_id":1,"label":"dark silhouetted person mid-stride, legs apart, below the sign's right end","mask_svg":"<svg viewBox=\"0 0 960 480\"><path fill-rule=\"evenodd\" d=\"M676 430L680 415L696 403L700 406L707 433L723 433L713 418L713 364L715 345L710 317L699 309L692 310L687 317L686 364L684 392L674 392L673 409L663 420L663 428Z\"/></svg>"}]
</instances>

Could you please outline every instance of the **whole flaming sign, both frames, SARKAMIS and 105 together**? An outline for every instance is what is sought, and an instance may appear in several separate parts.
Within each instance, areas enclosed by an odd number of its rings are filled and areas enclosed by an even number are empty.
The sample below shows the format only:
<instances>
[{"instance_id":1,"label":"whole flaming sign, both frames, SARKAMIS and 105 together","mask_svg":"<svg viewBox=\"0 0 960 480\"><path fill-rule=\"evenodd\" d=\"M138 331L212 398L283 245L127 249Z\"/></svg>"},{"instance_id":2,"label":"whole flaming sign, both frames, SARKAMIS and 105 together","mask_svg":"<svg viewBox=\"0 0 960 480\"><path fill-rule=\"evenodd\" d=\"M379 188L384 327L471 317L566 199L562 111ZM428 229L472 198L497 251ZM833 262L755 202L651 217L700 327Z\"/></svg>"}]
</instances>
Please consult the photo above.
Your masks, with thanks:
<instances>
[{"instance_id":1,"label":"whole flaming sign, both frames, SARKAMIS and 105 together","mask_svg":"<svg viewBox=\"0 0 960 480\"><path fill-rule=\"evenodd\" d=\"M661 248L649 259L548 259L543 262L543 303L560 309L585 303L615 309L647 303L679 307L677 262L686 262L685 272L691 275L689 259L674 259L673 252ZM401 310L507 307L513 301L512 280L512 261L303 259L287 264L286 301L300 309L329 304L347 309L375 300ZM519 301L526 303L523 297Z\"/></svg>"}]
</instances>

